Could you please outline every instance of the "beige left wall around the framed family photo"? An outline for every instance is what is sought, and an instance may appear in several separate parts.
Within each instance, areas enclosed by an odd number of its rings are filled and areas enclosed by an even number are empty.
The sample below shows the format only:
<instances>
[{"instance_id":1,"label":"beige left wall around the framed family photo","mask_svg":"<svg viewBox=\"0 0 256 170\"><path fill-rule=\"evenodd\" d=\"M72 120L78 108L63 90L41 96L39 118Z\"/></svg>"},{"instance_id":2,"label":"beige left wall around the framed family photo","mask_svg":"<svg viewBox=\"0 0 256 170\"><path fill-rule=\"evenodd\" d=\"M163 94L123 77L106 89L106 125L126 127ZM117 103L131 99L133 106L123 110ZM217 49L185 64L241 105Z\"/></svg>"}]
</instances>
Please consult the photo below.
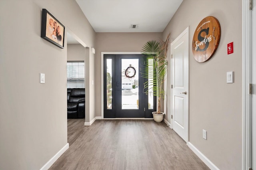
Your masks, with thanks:
<instances>
[{"instance_id":1,"label":"beige left wall around the framed family photo","mask_svg":"<svg viewBox=\"0 0 256 170\"><path fill-rule=\"evenodd\" d=\"M40 38L42 8L94 46L95 32L74 0L0 0L2 170L40 169L67 144L66 38L64 49Z\"/></svg>"}]
</instances>

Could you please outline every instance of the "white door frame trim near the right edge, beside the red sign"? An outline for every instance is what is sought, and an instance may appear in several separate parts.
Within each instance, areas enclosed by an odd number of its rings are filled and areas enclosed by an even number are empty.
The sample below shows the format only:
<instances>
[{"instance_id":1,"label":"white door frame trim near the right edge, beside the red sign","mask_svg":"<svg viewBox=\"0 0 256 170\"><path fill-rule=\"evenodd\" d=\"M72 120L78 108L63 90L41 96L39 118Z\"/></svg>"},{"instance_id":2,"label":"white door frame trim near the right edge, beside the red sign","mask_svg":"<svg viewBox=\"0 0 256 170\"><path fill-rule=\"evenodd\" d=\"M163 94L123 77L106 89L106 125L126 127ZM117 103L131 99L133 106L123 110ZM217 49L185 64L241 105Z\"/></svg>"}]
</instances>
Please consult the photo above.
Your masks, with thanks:
<instances>
[{"instance_id":1,"label":"white door frame trim near the right edge, beside the red sign","mask_svg":"<svg viewBox=\"0 0 256 170\"><path fill-rule=\"evenodd\" d=\"M252 100L249 95L249 83L252 82L252 10L249 0L242 1L242 169L248 170L252 165L251 148L251 113Z\"/></svg>"}]
</instances>

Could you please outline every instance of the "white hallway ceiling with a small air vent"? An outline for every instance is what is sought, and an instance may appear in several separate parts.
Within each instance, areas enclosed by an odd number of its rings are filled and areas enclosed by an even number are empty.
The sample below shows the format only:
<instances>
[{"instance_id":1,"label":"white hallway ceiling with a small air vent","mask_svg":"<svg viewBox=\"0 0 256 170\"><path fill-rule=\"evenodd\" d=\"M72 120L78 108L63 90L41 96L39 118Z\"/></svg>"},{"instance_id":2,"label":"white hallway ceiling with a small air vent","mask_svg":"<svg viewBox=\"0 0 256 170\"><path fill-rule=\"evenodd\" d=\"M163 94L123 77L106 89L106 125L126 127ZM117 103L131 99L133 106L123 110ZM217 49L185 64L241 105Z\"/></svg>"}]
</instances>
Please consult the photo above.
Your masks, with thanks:
<instances>
[{"instance_id":1,"label":"white hallway ceiling with a small air vent","mask_svg":"<svg viewBox=\"0 0 256 170\"><path fill-rule=\"evenodd\" d=\"M163 32L182 1L76 0L95 32Z\"/></svg>"}]
</instances>

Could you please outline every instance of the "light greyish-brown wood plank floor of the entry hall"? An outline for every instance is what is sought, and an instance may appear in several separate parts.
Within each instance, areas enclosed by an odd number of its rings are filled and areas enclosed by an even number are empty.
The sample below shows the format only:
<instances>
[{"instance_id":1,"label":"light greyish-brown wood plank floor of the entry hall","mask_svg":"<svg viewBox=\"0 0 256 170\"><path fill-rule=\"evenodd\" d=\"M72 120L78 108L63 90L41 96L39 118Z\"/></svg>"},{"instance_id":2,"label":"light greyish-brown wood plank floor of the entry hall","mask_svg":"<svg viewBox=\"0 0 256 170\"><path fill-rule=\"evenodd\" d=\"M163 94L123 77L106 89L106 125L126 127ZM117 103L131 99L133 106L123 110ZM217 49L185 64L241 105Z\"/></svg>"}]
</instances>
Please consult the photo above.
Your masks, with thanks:
<instances>
[{"instance_id":1,"label":"light greyish-brown wood plank floor of the entry hall","mask_svg":"<svg viewBox=\"0 0 256 170\"><path fill-rule=\"evenodd\" d=\"M69 119L68 142L50 170L209 170L164 122Z\"/></svg>"}]
</instances>

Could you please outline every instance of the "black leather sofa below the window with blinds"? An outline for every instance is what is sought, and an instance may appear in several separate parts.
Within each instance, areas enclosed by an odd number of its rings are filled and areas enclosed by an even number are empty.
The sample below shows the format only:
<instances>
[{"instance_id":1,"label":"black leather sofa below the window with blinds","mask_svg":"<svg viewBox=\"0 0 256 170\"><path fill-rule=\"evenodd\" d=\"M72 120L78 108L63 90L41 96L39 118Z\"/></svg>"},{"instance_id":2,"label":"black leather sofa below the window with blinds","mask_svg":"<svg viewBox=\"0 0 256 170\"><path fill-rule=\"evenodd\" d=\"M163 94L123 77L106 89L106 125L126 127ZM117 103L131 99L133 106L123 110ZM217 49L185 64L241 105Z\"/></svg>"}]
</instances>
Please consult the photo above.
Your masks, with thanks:
<instances>
[{"instance_id":1,"label":"black leather sofa below the window with blinds","mask_svg":"<svg viewBox=\"0 0 256 170\"><path fill-rule=\"evenodd\" d=\"M68 119L85 118L85 89L68 89Z\"/></svg>"}]
</instances>

